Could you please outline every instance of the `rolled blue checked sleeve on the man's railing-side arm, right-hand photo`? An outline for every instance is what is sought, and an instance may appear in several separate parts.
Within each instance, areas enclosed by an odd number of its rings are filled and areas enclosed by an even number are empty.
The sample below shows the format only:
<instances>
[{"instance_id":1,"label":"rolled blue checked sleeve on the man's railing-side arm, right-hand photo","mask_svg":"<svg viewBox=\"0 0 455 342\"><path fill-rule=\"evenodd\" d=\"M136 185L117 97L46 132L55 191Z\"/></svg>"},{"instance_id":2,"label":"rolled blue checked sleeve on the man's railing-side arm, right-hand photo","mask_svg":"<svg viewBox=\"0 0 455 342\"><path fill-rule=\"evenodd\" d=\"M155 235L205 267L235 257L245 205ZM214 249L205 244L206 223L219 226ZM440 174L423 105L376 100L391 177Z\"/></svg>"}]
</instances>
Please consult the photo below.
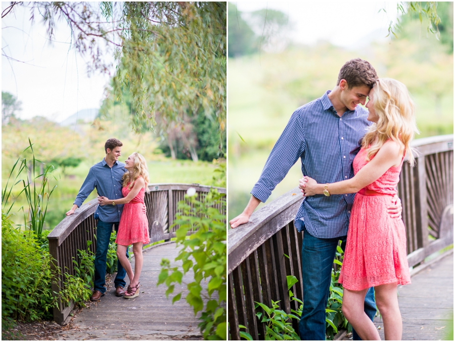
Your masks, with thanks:
<instances>
[{"instance_id":1,"label":"rolled blue checked sleeve on the man's railing-side arm, right-hand photo","mask_svg":"<svg viewBox=\"0 0 455 342\"><path fill-rule=\"evenodd\" d=\"M301 113L297 109L271 150L261 176L251 190L251 194L261 202L267 200L272 190L286 177L289 169L305 152L302 125Z\"/></svg>"}]
</instances>

